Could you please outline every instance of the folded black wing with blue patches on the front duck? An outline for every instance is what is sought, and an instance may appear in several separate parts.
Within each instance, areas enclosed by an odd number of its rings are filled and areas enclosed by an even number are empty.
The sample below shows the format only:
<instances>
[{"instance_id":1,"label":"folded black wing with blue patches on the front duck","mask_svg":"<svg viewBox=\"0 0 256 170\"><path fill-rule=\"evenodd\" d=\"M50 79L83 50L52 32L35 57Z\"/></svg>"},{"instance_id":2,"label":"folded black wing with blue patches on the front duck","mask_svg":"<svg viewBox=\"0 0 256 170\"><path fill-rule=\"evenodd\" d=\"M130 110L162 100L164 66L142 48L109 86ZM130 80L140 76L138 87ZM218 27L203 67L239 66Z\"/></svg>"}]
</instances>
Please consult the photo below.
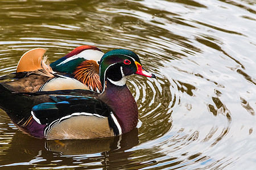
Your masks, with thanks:
<instances>
[{"instance_id":1,"label":"folded black wing with blue patches on the front duck","mask_svg":"<svg viewBox=\"0 0 256 170\"><path fill-rule=\"evenodd\" d=\"M32 108L32 116L39 124L49 124L73 113L90 113L108 117L110 108L102 101L88 96L49 95L56 103L41 103Z\"/></svg>"}]
</instances>

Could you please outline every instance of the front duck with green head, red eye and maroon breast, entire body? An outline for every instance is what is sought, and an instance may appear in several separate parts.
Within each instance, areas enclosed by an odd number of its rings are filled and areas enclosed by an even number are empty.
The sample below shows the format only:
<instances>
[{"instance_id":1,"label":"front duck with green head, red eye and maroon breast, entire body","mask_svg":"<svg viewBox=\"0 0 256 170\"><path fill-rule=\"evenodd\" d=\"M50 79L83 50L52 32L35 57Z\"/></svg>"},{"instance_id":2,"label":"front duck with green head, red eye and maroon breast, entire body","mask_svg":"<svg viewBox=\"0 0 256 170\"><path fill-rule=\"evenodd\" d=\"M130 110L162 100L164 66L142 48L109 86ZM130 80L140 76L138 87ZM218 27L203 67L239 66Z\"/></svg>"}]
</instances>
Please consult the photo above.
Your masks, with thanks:
<instances>
[{"instance_id":1,"label":"front duck with green head, red eye and maroon breast, entire body","mask_svg":"<svg viewBox=\"0 0 256 170\"><path fill-rule=\"evenodd\" d=\"M138 107L126 86L127 76L156 76L127 49L105 53L99 70L102 92L15 92L0 83L0 108L20 130L36 138L93 139L126 134L138 124Z\"/></svg>"}]
</instances>

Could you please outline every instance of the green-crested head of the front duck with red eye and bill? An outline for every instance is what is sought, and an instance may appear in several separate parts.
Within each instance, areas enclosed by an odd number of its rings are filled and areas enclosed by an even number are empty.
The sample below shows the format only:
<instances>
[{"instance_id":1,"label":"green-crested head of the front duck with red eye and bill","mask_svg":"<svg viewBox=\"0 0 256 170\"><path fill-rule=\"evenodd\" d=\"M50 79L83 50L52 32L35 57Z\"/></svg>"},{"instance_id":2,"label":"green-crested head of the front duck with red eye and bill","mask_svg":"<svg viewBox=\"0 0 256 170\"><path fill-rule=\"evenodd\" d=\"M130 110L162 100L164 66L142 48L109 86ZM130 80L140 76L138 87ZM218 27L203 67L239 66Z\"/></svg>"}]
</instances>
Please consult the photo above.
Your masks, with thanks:
<instances>
[{"instance_id":1,"label":"green-crested head of the front duck with red eye and bill","mask_svg":"<svg viewBox=\"0 0 256 170\"><path fill-rule=\"evenodd\" d=\"M100 80L105 88L106 80L116 86L124 86L126 76L138 74L155 78L155 75L144 70L137 54L131 50L115 49L107 52L100 60Z\"/></svg>"}]
</instances>

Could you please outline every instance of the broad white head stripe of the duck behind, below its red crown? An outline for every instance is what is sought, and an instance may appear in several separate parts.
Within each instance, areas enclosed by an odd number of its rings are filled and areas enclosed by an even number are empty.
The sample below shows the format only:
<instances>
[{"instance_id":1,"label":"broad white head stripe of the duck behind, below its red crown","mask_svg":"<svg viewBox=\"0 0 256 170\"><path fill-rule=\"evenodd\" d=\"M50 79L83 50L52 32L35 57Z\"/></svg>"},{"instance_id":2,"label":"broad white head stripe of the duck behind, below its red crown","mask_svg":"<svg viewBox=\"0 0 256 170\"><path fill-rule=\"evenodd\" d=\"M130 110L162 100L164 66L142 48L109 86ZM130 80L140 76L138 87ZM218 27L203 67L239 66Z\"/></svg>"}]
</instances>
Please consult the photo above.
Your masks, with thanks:
<instances>
[{"instance_id":1,"label":"broad white head stripe of the duck behind, below its red crown","mask_svg":"<svg viewBox=\"0 0 256 170\"><path fill-rule=\"evenodd\" d=\"M84 58L84 59L92 59L94 61L100 61L101 57L104 55L104 53L98 51L98 50L93 50L93 49L87 49L83 50L81 53L76 54L75 56L69 57L65 59L63 62L59 63L59 65L63 65L64 63L67 63L71 61L72 59L77 59L77 58Z\"/></svg>"}]
</instances>

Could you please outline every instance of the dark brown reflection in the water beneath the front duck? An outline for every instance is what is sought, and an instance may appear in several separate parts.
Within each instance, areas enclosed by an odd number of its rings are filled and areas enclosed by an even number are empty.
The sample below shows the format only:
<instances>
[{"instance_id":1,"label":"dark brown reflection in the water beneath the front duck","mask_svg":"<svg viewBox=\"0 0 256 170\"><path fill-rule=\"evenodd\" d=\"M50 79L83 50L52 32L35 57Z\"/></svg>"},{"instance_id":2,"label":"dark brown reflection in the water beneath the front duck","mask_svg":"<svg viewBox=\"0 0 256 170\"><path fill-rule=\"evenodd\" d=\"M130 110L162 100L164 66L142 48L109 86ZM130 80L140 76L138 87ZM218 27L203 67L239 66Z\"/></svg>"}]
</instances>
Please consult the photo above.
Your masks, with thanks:
<instances>
[{"instance_id":1,"label":"dark brown reflection in the water beneath the front duck","mask_svg":"<svg viewBox=\"0 0 256 170\"><path fill-rule=\"evenodd\" d=\"M81 167L97 162L98 167L108 169L117 162L131 163L134 152L126 150L138 143L137 128L117 137L86 140L37 139L18 131L5 150L5 158L0 155L0 167L12 167L19 160L23 165L35 167L47 164L51 168L61 165Z\"/></svg>"}]
</instances>

